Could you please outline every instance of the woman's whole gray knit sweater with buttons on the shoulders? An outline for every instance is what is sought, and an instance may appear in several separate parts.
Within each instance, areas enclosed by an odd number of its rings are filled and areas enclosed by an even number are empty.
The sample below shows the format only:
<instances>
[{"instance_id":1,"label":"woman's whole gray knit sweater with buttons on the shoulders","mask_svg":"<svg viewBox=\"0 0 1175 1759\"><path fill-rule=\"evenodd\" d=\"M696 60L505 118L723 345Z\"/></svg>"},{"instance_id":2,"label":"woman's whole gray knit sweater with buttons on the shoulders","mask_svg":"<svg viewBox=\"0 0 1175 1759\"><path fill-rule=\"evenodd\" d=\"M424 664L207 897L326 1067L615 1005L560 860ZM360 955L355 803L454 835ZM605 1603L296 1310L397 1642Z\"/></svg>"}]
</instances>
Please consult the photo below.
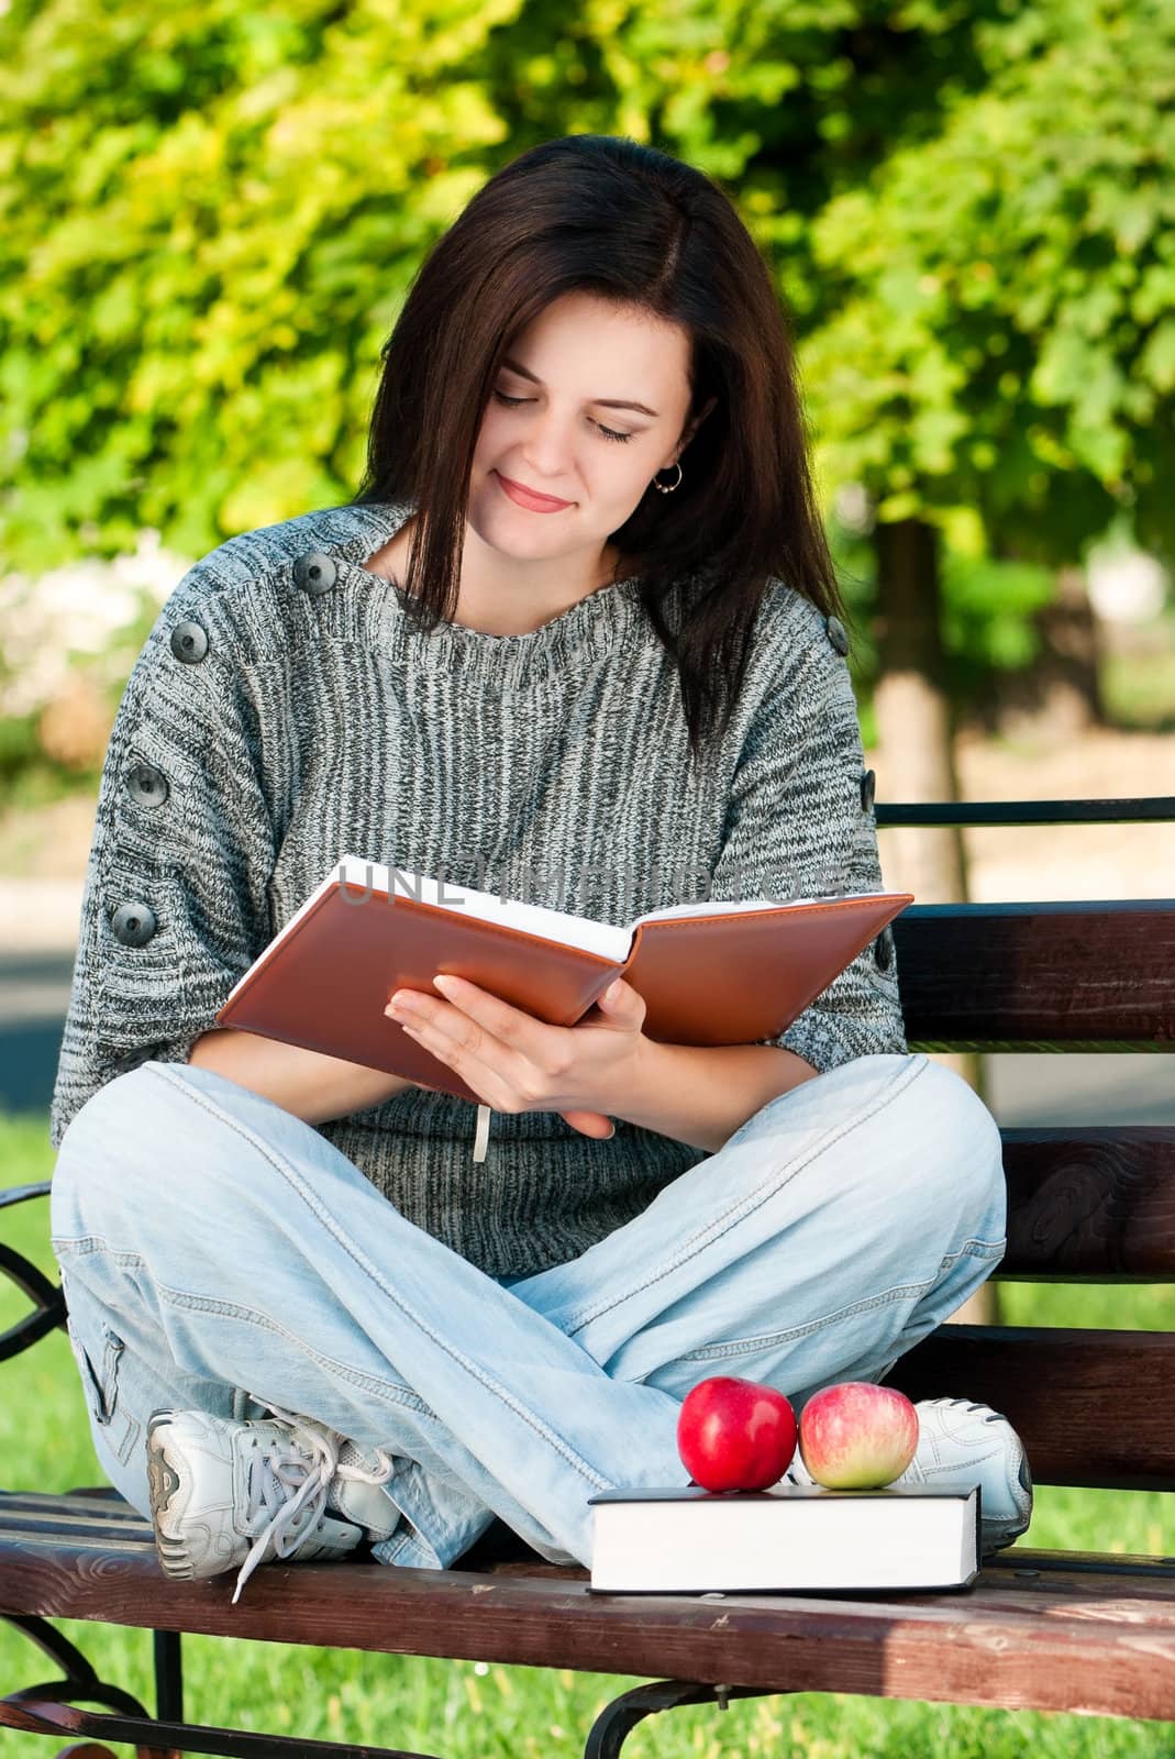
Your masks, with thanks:
<instances>
[{"instance_id":1,"label":"woman's whole gray knit sweater with buttons on the shoulders","mask_svg":"<svg viewBox=\"0 0 1175 1759\"><path fill-rule=\"evenodd\" d=\"M123 1069L188 1059L343 853L614 923L883 885L846 642L809 600L770 582L739 705L695 776L635 580L528 635L424 635L362 566L410 512L248 531L162 607L102 770L53 1147ZM904 1052L890 931L763 1043L821 1071ZM494 1277L579 1256L705 1159L623 1120L596 1142L556 1112L494 1112L475 1161L475 1119L410 1087L317 1128Z\"/></svg>"}]
</instances>

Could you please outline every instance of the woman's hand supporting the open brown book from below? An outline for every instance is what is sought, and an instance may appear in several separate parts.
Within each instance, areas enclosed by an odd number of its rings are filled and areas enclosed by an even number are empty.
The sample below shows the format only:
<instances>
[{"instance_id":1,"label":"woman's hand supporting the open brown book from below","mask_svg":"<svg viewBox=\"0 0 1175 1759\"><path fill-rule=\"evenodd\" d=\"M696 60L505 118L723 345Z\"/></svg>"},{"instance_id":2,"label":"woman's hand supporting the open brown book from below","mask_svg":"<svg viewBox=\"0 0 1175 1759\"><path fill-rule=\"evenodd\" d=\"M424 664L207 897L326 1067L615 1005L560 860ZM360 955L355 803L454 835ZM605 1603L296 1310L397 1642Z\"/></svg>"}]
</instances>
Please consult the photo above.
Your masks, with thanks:
<instances>
[{"instance_id":1,"label":"woman's hand supporting the open brown book from below","mask_svg":"<svg viewBox=\"0 0 1175 1759\"><path fill-rule=\"evenodd\" d=\"M558 1112L584 1136L610 1136L609 1112L639 1078L644 999L617 978L575 1025L547 1025L464 978L442 996L399 989L383 1010L494 1112ZM610 997L610 999L609 999Z\"/></svg>"}]
</instances>

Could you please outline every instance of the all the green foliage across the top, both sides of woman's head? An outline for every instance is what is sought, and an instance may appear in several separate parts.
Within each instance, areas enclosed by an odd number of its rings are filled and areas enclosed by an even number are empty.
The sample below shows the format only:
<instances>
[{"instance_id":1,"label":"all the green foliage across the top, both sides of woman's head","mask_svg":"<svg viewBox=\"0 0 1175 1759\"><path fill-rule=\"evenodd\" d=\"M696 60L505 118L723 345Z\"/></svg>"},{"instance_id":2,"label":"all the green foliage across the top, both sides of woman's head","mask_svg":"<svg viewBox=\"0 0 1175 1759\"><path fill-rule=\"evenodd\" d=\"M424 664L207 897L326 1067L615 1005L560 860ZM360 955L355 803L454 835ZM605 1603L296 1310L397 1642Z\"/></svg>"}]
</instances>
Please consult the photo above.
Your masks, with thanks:
<instances>
[{"instance_id":1,"label":"all the green foliage across the top, both sides of woman's head","mask_svg":"<svg viewBox=\"0 0 1175 1759\"><path fill-rule=\"evenodd\" d=\"M1166 0L16 0L9 565L144 524L201 554L350 494L422 253L582 130L737 201L795 315L827 507L864 484L952 547L967 510L966 558L1055 566L1133 505L1170 554L1173 90ZM952 572L953 628L996 580ZM1027 651L1011 610L983 621Z\"/></svg>"}]
</instances>

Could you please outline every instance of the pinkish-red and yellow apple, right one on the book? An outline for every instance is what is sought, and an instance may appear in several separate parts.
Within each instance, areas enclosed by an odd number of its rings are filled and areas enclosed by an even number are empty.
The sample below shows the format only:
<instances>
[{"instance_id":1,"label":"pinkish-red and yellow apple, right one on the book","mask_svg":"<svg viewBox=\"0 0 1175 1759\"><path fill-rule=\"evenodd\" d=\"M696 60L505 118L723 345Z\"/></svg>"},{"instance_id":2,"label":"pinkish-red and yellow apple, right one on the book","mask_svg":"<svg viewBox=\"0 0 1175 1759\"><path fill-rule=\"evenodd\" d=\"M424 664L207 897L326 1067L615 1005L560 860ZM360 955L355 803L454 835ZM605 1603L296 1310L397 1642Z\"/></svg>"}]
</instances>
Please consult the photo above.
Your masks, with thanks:
<instances>
[{"instance_id":1,"label":"pinkish-red and yellow apple, right one on the book","mask_svg":"<svg viewBox=\"0 0 1175 1759\"><path fill-rule=\"evenodd\" d=\"M918 1412L894 1386L841 1381L800 1411L800 1458L828 1490L892 1485L915 1456Z\"/></svg>"}]
</instances>

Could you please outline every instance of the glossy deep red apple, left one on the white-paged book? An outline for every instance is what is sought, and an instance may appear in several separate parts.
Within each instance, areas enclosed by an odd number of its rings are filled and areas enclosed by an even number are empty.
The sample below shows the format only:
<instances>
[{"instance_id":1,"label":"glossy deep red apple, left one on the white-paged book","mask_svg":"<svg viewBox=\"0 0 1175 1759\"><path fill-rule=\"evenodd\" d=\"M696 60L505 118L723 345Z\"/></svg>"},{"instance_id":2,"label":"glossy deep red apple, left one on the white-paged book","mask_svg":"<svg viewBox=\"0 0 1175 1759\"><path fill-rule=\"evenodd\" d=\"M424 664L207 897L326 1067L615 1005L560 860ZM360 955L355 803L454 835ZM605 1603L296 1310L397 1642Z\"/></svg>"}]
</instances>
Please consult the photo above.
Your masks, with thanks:
<instances>
[{"instance_id":1,"label":"glossy deep red apple, left one on the white-paged book","mask_svg":"<svg viewBox=\"0 0 1175 1759\"><path fill-rule=\"evenodd\" d=\"M716 1374L677 1412L677 1453L702 1490L765 1490L795 1453L795 1411L774 1386Z\"/></svg>"}]
</instances>

